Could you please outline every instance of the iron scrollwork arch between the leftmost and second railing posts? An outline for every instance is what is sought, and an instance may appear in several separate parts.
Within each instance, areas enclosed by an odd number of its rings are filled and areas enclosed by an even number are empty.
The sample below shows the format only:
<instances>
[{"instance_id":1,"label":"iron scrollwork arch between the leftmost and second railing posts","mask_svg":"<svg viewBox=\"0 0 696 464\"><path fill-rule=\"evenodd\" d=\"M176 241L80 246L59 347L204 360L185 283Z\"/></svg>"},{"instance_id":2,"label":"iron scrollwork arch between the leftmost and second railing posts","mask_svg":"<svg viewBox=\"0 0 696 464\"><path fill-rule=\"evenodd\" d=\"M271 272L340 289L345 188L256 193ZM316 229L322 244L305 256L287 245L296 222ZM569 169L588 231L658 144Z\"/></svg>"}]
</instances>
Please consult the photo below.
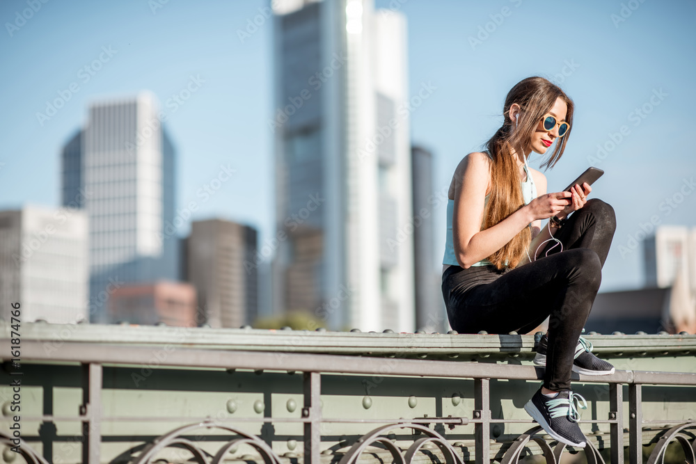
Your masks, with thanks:
<instances>
[{"instance_id":1,"label":"iron scrollwork arch between the leftmost and second railing posts","mask_svg":"<svg viewBox=\"0 0 696 464\"><path fill-rule=\"evenodd\" d=\"M203 449L198 447L196 443L191 442L191 440L188 440L187 438L181 436L185 433L189 433L196 429L220 429L223 431L234 433L235 435L239 435L242 438L235 438L234 440L230 440L219 449L215 456L211 456L209 458L209 455L205 451L203 451ZM213 421L205 421L200 422L198 424L184 425L179 427L178 429L174 429L173 431L166 433L165 435L161 435L160 437L156 438L153 442L145 446L145 448L138 456L134 464L149 464L150 461L152 461L152 459L155 458L155 456L157 456L159 451L162 451L163 449L168 447L184 447L185 449L191 451L191 454L193 454L193 458L200 464L219 464L223 462L223 458L225 458L225 455L228 454L230 449L234 448L237 445L251 445L252 447L254 447L263 458L265 464L280 464L280 458L278 458L278 456L274 454L271 447L269 447L269 445L267 445L266 442L258 438L256 435L246 433L244 431L226 425L217 424Z\"/></svg>"}]
</instances>

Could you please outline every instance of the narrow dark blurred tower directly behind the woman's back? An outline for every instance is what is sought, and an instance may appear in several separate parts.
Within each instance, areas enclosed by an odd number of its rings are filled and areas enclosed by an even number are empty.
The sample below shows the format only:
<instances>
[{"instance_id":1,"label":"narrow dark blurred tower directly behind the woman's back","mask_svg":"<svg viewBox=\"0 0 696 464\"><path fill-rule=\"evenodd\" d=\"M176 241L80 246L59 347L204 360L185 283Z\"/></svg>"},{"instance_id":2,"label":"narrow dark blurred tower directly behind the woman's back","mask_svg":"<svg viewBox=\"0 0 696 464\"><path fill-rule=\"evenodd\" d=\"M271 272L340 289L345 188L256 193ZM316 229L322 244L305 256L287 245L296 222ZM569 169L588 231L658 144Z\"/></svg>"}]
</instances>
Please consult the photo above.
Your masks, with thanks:
<instances>
[{"instance_id":1,"label":"narrow dark blurred tower directly behind the woman's back","mask_svg":"<svg viewBox=\"0 0 696 464\"><path fill-rule=\"evenodd\" d=\"M444 332L447 312L440 291L441 271L435 266L433 157L423 147L411 147L413 175L413 278L416 328Z\"/></svg>"}]
</instances>

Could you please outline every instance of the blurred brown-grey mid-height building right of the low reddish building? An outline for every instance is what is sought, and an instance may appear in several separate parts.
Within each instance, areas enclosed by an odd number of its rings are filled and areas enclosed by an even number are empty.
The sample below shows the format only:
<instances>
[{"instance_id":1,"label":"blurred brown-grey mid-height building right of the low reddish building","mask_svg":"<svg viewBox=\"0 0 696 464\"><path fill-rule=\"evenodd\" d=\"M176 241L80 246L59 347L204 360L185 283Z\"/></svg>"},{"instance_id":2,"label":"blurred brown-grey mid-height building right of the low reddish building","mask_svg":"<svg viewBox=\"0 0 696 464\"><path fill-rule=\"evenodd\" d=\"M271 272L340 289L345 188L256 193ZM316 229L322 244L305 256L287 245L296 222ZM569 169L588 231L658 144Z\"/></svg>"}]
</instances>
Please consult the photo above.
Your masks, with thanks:
<instances>
[{"instance_id":1,"label":"blurred brown-grey mid-height building right of the low reddish building","mask_svg":"<svg viewBox=\"0 0 696 464\"><path fill-rule=\"evenodd\" d=\"M199 319L211 327L238 328L258 314L256 230L211 219L194 221L187 239L187 280L198 291Z\"/></svg>"}]
</instances>

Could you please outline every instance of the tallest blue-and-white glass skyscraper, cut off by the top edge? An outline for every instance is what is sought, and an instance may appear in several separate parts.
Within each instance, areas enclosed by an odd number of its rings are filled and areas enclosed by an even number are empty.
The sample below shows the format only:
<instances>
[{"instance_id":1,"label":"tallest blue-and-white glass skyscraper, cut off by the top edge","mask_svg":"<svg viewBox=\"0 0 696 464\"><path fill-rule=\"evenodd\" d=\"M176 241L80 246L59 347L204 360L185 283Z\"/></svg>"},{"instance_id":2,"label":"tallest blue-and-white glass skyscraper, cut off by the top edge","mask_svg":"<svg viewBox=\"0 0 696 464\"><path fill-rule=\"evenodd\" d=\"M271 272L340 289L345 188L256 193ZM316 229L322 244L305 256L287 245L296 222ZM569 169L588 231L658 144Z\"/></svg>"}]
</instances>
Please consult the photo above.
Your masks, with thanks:
<instances>
[{"instance_id":1,"label":"tallest blue-and-white glass skyscraper, cut off by the top edge","mask_svg":"<svg viewBox=\"0 0 696 464\"><path fill-rule=\"evenodd\" d=\"M406 20L372 0L273 8L274 310L413 330Z\"/></svg>"}]
</instances>

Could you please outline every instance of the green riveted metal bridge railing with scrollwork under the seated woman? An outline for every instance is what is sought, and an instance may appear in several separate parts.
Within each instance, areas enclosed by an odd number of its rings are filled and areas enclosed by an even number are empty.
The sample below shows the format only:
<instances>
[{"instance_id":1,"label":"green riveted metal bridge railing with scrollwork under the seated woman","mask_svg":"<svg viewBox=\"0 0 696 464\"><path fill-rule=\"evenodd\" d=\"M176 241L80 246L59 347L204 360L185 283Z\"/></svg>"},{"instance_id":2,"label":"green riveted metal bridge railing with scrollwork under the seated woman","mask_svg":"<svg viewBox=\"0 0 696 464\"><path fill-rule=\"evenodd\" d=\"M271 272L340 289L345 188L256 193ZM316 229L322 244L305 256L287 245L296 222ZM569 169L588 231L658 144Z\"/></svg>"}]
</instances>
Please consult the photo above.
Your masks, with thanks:
<instances>
[{"instance_id":1,"label":"green riveted metal bridge railing with scrollwork under the seated woman","mask_svg":"<svg viewBox=\"0 0 696 464\"><path fill-rule=\"evenodd\" d=\"M565 450L521 410L543 374L532 336L22 328L27 462L513 463L532 452L557 463ZM10 353L9 326L0 333ZM619 369L575 377L590 403L587 461L610 449L623 463L627 447L642 463L652 444L656 463L677 442L693 463L696 335L588 338ZM17 368L1 358L11 444Z\"/></svg>"}]
</instances>

